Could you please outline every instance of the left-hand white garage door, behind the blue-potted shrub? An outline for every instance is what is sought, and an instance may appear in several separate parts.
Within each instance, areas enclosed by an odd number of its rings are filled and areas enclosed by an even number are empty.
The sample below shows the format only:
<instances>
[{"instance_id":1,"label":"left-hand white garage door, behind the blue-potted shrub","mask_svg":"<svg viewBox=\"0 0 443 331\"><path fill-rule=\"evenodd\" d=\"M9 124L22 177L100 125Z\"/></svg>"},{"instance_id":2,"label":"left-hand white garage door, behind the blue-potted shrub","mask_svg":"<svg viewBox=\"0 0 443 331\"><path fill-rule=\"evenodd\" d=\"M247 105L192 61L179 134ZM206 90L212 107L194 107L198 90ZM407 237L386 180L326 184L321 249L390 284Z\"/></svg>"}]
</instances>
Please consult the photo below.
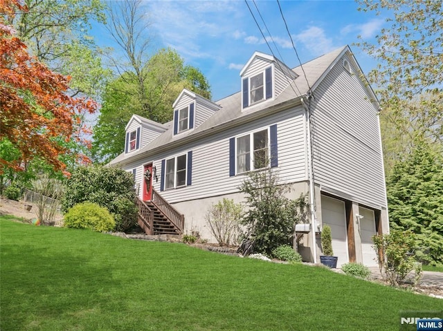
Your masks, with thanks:
<instances>
[{"instance_id":1,"label":"left-hand white garage door, behind the blue-potted shrub","mask_svg":"<svg viewBox=\"0 0 443 331\"><path fill-rule=\"evenodd\" d=\"M332 249L334 256L338 256L337 267L348 262L345 215L345 202L321 196L321 218L323 225L331 227Z\"/></svg>"}]
</instances>

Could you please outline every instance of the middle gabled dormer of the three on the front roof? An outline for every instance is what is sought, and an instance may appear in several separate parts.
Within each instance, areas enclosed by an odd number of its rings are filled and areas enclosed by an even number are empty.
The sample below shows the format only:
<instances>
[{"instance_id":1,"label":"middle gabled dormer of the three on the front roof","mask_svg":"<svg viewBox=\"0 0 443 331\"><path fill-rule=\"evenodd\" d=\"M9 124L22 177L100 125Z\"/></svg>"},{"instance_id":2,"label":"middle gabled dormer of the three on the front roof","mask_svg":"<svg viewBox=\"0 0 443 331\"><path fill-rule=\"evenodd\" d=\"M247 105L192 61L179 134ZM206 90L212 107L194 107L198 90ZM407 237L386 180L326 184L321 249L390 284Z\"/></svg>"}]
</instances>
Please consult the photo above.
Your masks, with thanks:
<instances>
[{"instance_id":1,"label":"middle gabled dormer of the three on the front roof","mask_svg":"<svg viewBox=\"0 0 443 331\"><path fill-rule=\"evenodd\" d=\"M219 110L219 105L183 88L174 104L174 135L191 131Z\"/></svg>"}]
</instances>

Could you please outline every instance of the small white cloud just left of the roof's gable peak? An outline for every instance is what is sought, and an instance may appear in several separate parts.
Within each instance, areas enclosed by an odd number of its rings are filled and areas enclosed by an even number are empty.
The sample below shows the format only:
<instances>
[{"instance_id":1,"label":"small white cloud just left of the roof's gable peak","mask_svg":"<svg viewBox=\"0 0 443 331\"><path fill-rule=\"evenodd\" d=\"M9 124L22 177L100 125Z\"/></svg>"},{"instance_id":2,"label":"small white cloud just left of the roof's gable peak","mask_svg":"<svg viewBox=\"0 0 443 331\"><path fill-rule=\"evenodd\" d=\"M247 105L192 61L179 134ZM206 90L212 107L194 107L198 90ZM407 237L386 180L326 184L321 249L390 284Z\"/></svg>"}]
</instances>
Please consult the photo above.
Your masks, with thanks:
<instances>
[{"instance_id":1,"label":"small white cloud just left of the roof's gable peak","mask_svg":"<svg viewBox=\"0 0 443 331\"><path fill-rule=\"evenodd\" d=\"M325 30L318 28L318 26L311 26L307 30L298 33L298 35L293 36L293 38L316 56L323 55L336 48L332 43L332 39L326 37Z\"/></svg>"}]
</instances>

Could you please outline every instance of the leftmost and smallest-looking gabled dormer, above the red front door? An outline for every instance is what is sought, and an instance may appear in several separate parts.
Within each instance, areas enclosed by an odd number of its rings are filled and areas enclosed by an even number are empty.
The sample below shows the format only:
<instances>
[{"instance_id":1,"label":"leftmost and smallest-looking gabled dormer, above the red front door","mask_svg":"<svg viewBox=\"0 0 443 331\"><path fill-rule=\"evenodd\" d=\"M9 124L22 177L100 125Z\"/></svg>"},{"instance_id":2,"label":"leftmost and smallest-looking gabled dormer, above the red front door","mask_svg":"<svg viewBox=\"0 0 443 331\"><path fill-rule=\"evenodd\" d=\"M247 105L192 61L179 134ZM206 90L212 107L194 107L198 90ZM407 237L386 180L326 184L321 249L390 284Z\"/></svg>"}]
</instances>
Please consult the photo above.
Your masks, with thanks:
<instances>
[{"instance_id":1,"label":"leftmost and smallest-looking gabled dormer, above the red front door","mask_svg":"<svg viewBox=\"0 0 443 331\"><path fill-rule=\"evenodd\" d=\"M148 120L138 115L132 115L125 129L125 153L138 151L167 129L168 126L164 124Z\"/></svg>"}]
</instances>

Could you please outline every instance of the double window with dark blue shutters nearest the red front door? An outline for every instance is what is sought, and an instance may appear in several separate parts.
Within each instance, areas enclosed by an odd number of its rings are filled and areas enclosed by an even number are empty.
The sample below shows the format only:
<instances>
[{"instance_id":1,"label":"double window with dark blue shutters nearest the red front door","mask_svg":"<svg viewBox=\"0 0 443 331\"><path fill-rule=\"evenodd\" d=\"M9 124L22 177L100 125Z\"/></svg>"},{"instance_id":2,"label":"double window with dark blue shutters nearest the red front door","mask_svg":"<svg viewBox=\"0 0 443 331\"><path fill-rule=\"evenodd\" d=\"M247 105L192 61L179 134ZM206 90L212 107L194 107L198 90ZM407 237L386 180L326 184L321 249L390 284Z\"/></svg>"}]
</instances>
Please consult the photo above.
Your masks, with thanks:
<instances>
[{"instance_id":1,"label":"double window with dark blue shutters nearest the red front door","mask_svg":"<svg viewBox=\"0 0 443 331\"><path fill-rule=\"evenodd\" d=\"M192 151L162 160L161 164L161 191L191 185Z\"/></svg>"}]
</instances>

